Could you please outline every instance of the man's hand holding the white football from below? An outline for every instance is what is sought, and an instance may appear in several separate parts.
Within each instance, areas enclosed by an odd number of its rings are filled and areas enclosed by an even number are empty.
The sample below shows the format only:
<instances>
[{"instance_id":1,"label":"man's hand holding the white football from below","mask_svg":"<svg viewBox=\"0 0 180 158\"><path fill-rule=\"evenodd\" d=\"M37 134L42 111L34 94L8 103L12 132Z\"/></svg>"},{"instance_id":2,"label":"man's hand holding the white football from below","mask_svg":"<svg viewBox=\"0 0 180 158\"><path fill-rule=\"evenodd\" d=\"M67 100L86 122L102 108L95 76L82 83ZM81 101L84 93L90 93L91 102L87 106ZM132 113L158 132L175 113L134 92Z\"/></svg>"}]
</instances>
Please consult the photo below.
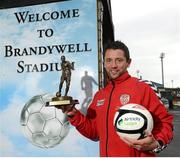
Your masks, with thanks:
<instances>
[{"instance_id":1,"label":"man's hand holding the white football from below","mask_svg":"<svg viewBox=\"0 0 180 158\"><path fill-rule=\"evenodd\" d=\"M153 137L151 133L145 132L146 137L143 139L131 139L127 137L121 138L125 143L127 143L130 147L135 148L141 151L153 151L155 148L159 146L158 141Z\"/></svg>"}]
</instances>

